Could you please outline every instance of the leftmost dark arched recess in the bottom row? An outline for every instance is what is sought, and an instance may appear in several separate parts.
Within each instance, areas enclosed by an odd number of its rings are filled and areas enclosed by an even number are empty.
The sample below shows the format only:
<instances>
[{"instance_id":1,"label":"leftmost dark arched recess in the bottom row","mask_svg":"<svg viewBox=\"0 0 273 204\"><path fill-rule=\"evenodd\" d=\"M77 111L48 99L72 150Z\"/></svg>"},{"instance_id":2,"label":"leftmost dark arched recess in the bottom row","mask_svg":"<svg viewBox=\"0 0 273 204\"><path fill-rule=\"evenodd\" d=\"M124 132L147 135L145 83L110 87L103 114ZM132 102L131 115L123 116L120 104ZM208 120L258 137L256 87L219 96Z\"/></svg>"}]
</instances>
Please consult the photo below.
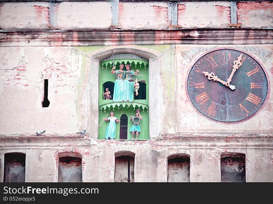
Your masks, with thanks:
<instances>
[{"instance_id":1,"label":"leftmost dark arched recess in the bottom row","mask_svg":"<svg viewBox=\"0 0 273 204\"><path fill-rule=\"evenodd\" d=\"M5 154L4 182L25 182L25 154Z\"/></svg>"}]
</instances>

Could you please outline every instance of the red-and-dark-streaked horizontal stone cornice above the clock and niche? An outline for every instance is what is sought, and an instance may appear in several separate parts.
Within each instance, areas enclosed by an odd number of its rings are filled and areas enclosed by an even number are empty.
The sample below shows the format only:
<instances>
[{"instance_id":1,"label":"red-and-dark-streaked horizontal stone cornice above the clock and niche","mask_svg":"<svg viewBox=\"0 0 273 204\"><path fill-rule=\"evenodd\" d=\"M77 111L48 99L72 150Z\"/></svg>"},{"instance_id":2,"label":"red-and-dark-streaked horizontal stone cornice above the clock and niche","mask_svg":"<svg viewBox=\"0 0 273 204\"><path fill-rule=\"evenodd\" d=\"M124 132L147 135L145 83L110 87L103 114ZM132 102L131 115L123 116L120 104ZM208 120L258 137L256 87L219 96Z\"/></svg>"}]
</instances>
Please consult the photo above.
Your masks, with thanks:
<instances>
[{"instance_id":1,"label":"red-and-dark-streaked horizontal stone cornice above the clock and niche","mask_svg":"<svg viewBox=\"0 0 273 204\"><path fill-rule=\"evenodd\" d=\"M273 29L2 30L1 47L273 44Z\"/></svg>"}]
</instances>

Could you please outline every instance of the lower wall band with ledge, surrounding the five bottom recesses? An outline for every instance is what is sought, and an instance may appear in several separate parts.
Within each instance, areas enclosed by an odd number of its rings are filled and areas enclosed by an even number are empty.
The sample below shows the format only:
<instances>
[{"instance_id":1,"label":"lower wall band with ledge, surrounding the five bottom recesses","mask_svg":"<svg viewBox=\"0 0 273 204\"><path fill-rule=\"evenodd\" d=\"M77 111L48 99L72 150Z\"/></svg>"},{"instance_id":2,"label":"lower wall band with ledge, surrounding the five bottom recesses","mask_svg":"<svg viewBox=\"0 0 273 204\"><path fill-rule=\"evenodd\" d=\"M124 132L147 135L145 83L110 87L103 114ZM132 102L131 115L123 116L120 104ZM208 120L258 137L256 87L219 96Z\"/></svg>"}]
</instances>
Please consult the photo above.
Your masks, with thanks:
<instances>
[{"instance_id":1,"label":"lower wall band with ledge, surrounding the five bottom recesses","mask_svg":"<svg viewBox=\"0 0 273 204\"><path fill-rule=\"evenodd\" d=\"M26 154L26 182L57 182L58 158L82 158L83 182L114 182L115 153L135 153L135 182L167 182L168 156L190 156L190 182L220 182L221 154L245 154L246 182L272 182L270 135L162 135L148 141L97 140L89 135L21 135L0 137L0 171L4 154ZM30 142L31 141L31 142ZM22 146L22 148L19 148ZM0 174L3 181L3 174Z\"/></svg>"}]
</instances>

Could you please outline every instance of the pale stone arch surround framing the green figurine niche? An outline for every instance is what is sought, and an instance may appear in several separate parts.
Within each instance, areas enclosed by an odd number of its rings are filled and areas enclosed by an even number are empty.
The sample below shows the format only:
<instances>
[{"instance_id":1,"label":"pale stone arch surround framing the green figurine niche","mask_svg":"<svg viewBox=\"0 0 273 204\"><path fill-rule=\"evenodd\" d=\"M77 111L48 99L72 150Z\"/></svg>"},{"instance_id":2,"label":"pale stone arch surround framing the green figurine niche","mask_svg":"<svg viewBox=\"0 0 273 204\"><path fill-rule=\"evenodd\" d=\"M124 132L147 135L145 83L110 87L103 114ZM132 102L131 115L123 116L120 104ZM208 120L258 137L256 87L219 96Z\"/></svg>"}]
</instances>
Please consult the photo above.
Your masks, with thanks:
<instances>
[{"instance_id":1,"label":"pale stone arch surround framing the green figurine niche","mask_svg":"<svg viewBox=\"0 0 273 204\"><path fill-rule=\"evenodd\" d=\"M88 54L89 61L87 61L86 65L86 76L88 75L88 77L86 77L86 82L83 84L78 101L82 110L79 129L89 129L87 131L92 138L98 138L99 63L106 57L111 56L112 50L114 54L128 53L149 59L149 120L159 121L160 118L160 112L158 111L160 110L160 103L159 100L155 100L158 97L153 90L160 87L159 57L162 53L136 45L102 48ZM159 125L159 122L153 125L149 124L150 138L159 136Z\"/></svg>"}]
</instances>

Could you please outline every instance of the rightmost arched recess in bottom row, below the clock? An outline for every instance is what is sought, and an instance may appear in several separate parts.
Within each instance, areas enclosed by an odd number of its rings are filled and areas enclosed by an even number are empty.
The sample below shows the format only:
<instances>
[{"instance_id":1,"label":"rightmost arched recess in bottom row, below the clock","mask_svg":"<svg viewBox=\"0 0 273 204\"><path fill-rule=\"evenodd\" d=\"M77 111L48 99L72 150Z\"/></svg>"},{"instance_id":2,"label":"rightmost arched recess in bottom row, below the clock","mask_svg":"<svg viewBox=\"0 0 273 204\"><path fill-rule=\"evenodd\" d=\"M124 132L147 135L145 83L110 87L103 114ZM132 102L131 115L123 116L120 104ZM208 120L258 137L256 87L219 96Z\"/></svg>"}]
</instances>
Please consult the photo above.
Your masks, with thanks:
<instances>
[{"instance_id":1,"label":"rightmost arched recess in bottom row, below the clock","mask_svg":"<svg viewBox=\"0 0 273 204\"><path fill-rule=\"evenodd\" d=\"M245 182L245 154L225 152L221 154L221 182Z\"/></svg>"}]
</instances>

